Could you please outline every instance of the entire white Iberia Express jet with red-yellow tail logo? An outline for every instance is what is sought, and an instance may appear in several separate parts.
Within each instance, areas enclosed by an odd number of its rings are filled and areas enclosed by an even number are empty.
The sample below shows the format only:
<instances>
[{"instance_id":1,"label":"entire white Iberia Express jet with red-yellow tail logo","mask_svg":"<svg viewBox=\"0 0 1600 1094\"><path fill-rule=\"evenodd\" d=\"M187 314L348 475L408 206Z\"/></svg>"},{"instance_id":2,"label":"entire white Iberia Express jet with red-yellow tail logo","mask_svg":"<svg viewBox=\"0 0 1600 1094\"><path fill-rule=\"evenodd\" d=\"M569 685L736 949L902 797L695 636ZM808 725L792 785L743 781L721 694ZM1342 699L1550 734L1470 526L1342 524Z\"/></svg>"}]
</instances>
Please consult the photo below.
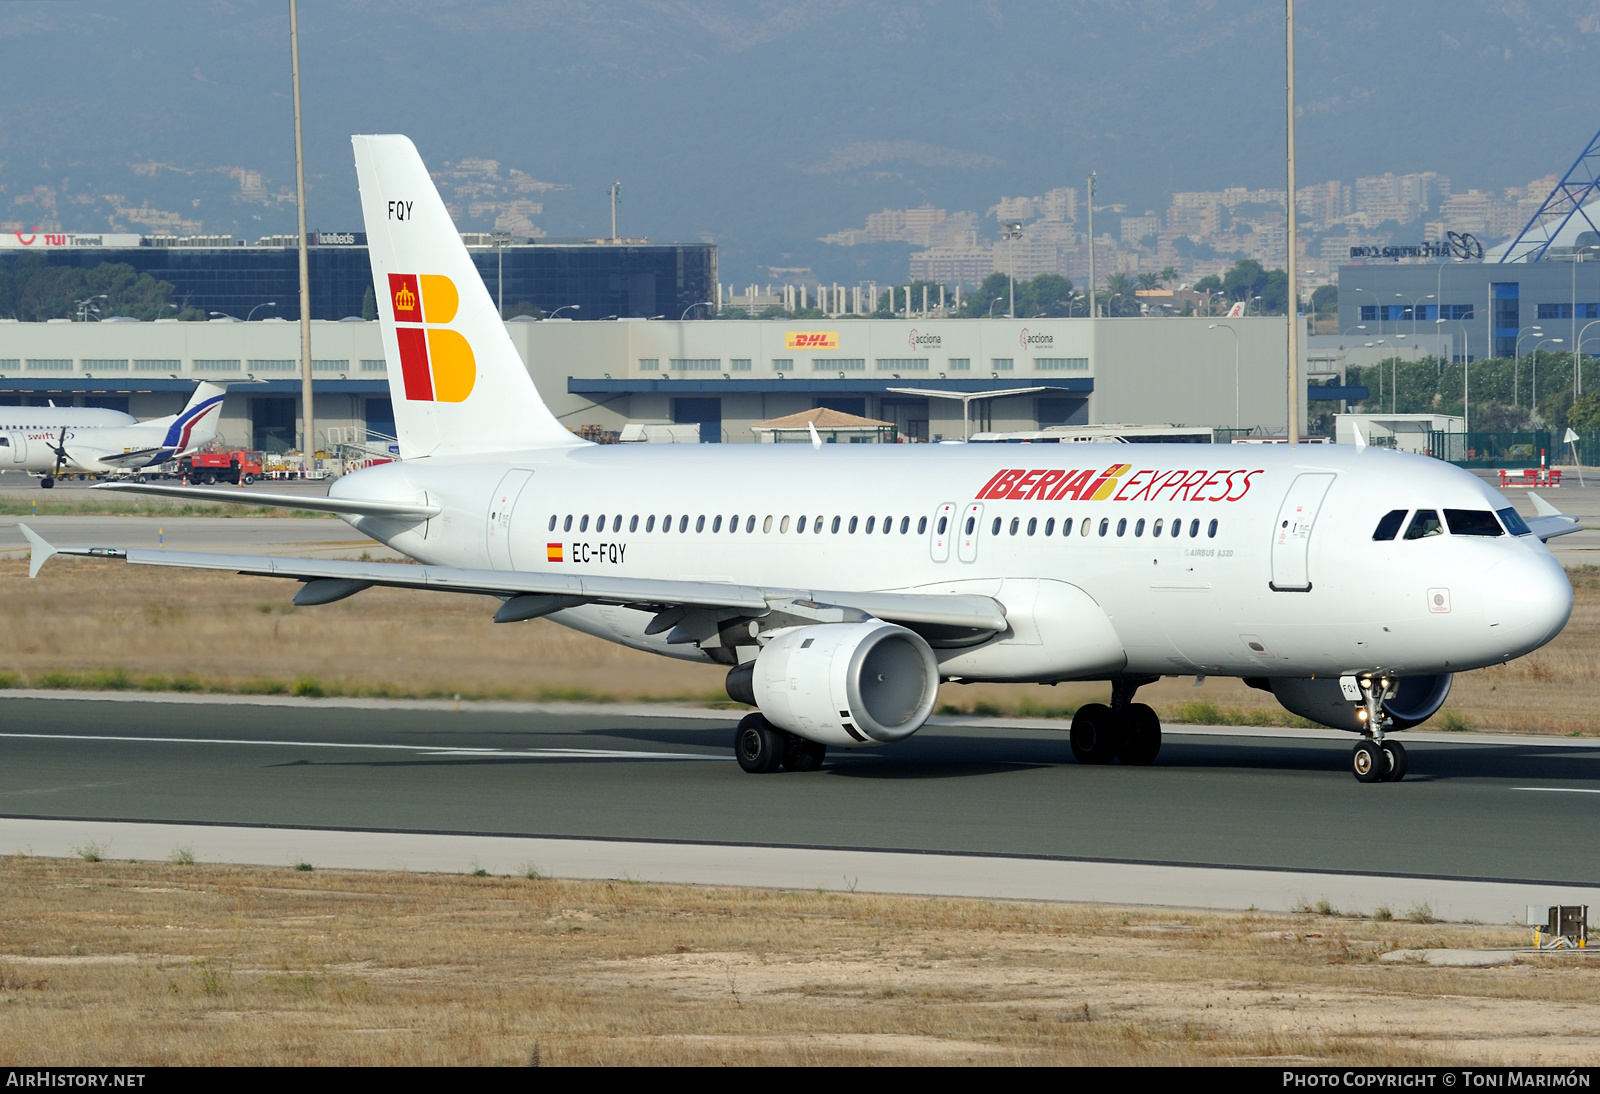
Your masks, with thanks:
<instances>
[{"instance_id":1,"label":"entire white Iberia Express jet with red-yellow tail logo","mask_svg":"<svg viewBox=\"0 0 1600 1094\"><path fill-rule=\"evenodd\" d=\"M66 547L134 565L480 593L494 619L562 625L728 667L758 707L750 773L886 745L941 680L1106 680L1072 720L1083 763L1150 763L1163 675L1242 677L1358 734L1352 771L1400 779L1389 734L1451 673L1550 641L1573 605L1541 536L1434 459L1347 446L595 446L539 400L427 170L358 136L373 278L403 462L346 475L322 509L421 566ZM234 491L114 486L234 501ZM106 489L106 488L101 488ZM34 573L54 553L29 533Z\"/></svg>"}]
</instances>

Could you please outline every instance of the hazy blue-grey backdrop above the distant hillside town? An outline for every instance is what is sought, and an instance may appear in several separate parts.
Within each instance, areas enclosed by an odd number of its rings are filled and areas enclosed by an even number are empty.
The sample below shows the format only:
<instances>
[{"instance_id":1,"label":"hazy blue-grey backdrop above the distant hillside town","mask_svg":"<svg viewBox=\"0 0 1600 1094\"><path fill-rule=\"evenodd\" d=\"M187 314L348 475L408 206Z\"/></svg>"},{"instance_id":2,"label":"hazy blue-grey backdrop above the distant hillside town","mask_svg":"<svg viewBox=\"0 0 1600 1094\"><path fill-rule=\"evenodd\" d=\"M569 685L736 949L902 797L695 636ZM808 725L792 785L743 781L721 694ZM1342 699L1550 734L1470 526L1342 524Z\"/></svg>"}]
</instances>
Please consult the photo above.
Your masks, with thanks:
<instances>
[{"instance_id":1,"label":"hazy blue-grey backdrop above the distant hillside town","mask_svg":"<svg viewBox=\"0 0 1600 1094\"><path fill-rule=\"evenodd\" d=\"M275 198L293 186L286 10L3 5L0 221L54 202L66 229L133 208L293 230ZM1565 171L1600 126L1600 0L1298 14L1302 182L1435 170L1458 190L1522 186ZM786 254L842 261L816 237L885 206L982 213L1090 170L1131 211L1283 184L1282 2L310 2L301 35L323 229L358 227L355 131L406 133L434 168L525 173L550 235L608 230L621 179L624 234L712 238L723 280Z\"/></svg>"}]
</instances>

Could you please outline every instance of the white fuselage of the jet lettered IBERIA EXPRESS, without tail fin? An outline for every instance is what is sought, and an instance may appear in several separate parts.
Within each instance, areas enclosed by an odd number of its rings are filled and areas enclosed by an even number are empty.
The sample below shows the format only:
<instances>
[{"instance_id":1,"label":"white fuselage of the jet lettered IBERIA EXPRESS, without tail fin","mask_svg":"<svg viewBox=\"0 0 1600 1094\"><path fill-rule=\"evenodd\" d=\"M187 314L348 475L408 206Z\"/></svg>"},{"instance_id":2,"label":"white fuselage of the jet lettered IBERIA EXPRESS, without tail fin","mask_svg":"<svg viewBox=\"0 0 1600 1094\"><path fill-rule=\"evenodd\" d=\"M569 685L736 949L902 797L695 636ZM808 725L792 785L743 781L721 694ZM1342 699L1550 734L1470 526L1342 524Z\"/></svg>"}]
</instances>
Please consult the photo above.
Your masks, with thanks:
<instances>
[{"instance_id":1,"label":"white fuselage of the jet lettered IBERIA EXPRESS, without tail fin","mask_svg":"<svg viewBox=\"0 0 1600 1094\"><path fill-rule=\"evenodd\" d=\"M1008 470L1021 473L997 483ZM1099 481L1098 499L1048 499L1074 480L1085 494ZM1291 512L1317 485L1320 505ZM426 523L352 521L435 565L990 595L1011 630L941 651L941 672L962 678L1461 672L1547 643L1573 597L1531 534L1374 541L1390 510L1509 502L1448 464L1342 446L581 446L406 461L331 493L442 505ZM1107 641L1085 605L1109 621L1114 657L1085 653ZM555 616L706 656L645 637L650 617Z\"/></svg>"}]
</instances>

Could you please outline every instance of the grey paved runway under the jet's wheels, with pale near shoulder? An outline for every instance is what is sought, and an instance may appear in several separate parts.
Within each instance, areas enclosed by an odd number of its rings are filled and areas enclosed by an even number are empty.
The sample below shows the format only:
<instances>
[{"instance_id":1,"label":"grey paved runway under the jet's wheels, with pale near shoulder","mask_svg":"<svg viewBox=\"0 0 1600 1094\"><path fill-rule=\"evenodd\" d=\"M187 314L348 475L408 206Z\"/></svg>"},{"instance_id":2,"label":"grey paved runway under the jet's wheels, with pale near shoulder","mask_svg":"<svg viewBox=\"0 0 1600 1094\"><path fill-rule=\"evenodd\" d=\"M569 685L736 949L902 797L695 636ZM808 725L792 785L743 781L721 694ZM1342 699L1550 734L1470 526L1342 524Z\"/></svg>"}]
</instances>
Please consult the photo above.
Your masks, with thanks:
<instances>
[{"instance_id":1,"label":"grey paved runway under the jet's wheels, with pale near shoulder","mask_svg":"<svg viewBox=\"0 0 1600 1094\"><path fill-rule=\"evenodd\" d=\"M1043 728L1048 726L1048 728ZM1171 728L1150 768L1066 726L936 725L747 776L718 713L0 699L0 852L630 876L1507 921L1600 904L1600 742Z\"/></svg>"}]
</instances>

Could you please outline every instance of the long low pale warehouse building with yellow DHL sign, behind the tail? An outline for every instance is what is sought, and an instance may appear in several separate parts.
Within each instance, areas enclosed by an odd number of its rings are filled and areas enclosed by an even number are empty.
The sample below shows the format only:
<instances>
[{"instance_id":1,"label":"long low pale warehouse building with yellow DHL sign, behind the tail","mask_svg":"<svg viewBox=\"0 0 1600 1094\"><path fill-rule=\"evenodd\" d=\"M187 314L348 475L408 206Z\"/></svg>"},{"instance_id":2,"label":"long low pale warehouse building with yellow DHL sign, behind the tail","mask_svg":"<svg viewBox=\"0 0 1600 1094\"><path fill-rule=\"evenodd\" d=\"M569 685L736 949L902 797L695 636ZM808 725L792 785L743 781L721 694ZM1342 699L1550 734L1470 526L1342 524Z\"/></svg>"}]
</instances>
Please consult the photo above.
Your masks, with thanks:
<instances>
[{"instance_id":1,"label":"long low pale warehouse building with yellow DHL sign, behind the tail","mask_svg":"<svg viewBox=\"0 0 1600 1094\"><path fill-rule=\"evenodd\" d=\"M574 432L675 424L694 427L675 435L750 443L762 438L754 424L824 406L890 422L906 440L957 440L963 397L971 432L1117 422L1282 432L1286 421L1282 317L555 318L506 329ZM280 318L0 321L0 403L155 417L179 409L197 381L240 381L224 403L224 443L298 449L299 352L299 325ZM312 321L318 449L394 435L384 357L376 321Z\"/></svg>"}]
</instances>

